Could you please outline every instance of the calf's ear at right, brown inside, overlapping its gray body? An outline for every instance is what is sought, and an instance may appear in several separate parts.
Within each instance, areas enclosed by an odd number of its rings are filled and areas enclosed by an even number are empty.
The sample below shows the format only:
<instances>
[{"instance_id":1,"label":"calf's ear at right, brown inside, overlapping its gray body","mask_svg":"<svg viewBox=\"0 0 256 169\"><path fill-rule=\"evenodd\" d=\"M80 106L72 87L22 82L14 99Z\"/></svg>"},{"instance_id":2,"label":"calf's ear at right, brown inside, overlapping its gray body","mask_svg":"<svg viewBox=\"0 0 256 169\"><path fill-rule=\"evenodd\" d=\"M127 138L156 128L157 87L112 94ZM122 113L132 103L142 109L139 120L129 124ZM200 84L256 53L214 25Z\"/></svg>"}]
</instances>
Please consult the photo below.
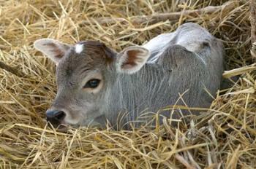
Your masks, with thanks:
<instances>
[{"instance_id":1,"label":"calf's ear at right, brown inside, overlapping its gray body","mask_svg":"<svg viewBox=\"0 0 256 169\"><path fill-rule=\"evenodd\" d=\"M117 70L121 73L134 74L144 66L150 52L144 47L127 47L118 54Z\"/></svg>"}]
</instances>

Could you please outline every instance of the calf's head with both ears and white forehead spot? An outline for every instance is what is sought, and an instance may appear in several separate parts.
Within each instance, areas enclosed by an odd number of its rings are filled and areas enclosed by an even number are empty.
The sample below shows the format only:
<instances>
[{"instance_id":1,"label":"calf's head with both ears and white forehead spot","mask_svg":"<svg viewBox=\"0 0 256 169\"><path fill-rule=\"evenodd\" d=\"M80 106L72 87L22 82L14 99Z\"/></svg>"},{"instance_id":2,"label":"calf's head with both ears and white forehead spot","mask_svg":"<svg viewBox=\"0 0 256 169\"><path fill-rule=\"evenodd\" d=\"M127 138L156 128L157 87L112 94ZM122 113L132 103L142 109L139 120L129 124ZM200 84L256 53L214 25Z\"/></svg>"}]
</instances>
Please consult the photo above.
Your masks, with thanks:
<instances>
[{"instance_id":1,"label":"calf's head with both ears and white forehead spot","mask_svg":"<svg viewBox=\"0 0 256 169\"><path fill-rule=\"evenodd\" d=\"M89 125L104 115L108 95L118 74L134 74L146 63L149 52L143 47L127 47L120 53L96 41L64 44L39 39L34 47L56 63L57 95L46 111L54 126Z\"/></svg>"}]
</instances>

